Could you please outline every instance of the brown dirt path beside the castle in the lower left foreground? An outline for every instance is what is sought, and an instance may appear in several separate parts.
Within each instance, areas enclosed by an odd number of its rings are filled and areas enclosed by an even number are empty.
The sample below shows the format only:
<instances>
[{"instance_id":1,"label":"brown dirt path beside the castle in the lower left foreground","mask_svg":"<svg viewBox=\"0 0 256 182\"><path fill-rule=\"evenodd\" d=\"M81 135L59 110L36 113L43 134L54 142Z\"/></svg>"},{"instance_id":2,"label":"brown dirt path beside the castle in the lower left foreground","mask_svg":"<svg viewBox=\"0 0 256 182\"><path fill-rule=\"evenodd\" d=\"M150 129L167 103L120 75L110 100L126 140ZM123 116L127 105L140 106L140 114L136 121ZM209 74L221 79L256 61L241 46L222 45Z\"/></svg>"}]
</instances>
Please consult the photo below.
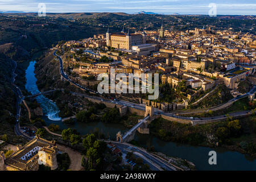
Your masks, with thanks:
<instances>
[{"instance_id":1,"label":"brown dirt path beside the castle in the lower left foreground","mask_svg":"<svg viewBox=\"0 0 256 182\"><path fill-rule=\"evenodd\" d=\"M81 166L82 155L80 154L80 152L74 151L72 148L63 146L61 144L57 144L57 147L60 151L68 153L68 156L71 160L71 164L69 166L69 169L71 169L71 171L81 171L82 169L84 169Z\"/></svg>"}]
</instances>

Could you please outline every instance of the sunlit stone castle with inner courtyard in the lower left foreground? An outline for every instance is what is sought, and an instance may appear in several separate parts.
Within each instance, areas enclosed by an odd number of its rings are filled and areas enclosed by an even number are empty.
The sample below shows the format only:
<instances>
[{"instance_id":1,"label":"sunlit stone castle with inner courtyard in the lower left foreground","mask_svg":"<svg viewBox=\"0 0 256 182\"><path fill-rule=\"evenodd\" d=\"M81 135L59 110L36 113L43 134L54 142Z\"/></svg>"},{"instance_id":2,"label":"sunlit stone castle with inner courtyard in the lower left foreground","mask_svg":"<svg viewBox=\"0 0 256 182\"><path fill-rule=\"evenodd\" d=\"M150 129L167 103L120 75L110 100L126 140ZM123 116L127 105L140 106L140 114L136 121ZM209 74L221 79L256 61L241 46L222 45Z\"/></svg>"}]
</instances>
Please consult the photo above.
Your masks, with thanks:
<instances>
[{"instance_id":1,"label":"sunlit stone castle with inner courtyard in the lower left foreground","mask_svg":"<svg viewBox=\"0 0 256 182\"><path fill-rule=\"evenodd\" d=\"M55 140L51 142L40 138L39 135L24 146L16 146L17 150L5 158L0 151L0 171L37 171L39 164L57 168L57 146Z\"/></svg>"}]
</instances>

